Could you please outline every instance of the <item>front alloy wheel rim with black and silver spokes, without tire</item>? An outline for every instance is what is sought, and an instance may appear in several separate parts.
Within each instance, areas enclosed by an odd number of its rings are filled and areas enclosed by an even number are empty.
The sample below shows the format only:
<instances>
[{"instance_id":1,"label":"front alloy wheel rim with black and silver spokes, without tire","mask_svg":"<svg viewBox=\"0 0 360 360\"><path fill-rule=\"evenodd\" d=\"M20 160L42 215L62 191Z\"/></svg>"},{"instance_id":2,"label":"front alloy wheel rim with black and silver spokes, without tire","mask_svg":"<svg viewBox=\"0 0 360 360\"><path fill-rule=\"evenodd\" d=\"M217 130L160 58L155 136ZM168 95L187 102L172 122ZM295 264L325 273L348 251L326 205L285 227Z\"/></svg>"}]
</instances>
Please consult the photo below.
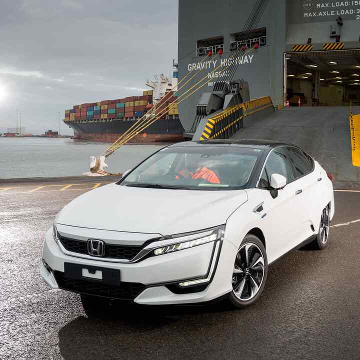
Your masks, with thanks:
<instances>
[{"instance_id":1,"label":"front alloy wheel rim with black and silver spokes, without tire","mask_svg":"<svg viewBox=\"0 0 360 360\"><path fill-rule=\"evenodd\" d=\"M264 256L252 242L240 246L232 271L232 291L235 296L247 301L259 291L264 278Z\"/></svg>"}]
</instances>

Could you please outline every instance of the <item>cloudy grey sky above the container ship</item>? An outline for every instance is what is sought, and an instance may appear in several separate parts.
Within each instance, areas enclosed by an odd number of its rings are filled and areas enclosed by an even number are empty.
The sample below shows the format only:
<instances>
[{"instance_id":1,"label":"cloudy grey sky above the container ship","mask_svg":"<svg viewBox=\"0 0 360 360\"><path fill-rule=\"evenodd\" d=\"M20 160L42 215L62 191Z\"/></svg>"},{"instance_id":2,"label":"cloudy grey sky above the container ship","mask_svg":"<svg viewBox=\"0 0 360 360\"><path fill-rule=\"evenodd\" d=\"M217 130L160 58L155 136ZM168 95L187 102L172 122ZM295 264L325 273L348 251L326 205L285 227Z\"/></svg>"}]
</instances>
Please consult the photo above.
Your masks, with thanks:
<instances>
[{"instance_id":1,"label":"cloudy grey sky above the container ship","mask_svg":"<svg viewBox=\"0 0 360 360\"><path fill-rule=\"evenodd\" d=\"M177 0L0 0L0 132L57 130L72 105L140 95L177 58ZM60 114L59 114L60 112ZM72 130L60 121L60 133Z\"/></svg>"}]
</instances>

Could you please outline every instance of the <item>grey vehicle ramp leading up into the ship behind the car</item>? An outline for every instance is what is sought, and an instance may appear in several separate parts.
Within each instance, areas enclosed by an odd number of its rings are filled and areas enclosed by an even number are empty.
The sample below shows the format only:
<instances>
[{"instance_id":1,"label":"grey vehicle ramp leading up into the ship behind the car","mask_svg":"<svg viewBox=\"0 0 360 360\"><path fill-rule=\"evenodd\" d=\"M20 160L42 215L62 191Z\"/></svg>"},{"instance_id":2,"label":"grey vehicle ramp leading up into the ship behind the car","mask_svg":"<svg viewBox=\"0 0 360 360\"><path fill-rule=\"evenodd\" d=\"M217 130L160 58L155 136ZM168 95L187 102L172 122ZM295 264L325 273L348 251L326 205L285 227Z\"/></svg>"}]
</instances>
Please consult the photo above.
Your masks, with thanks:
<instances>
[{"instance_id":1,"label":"grey vehicle ramp leading up into the ship behind the car","mask_svg":"<svg viewBox=\"0 0 360 360\"><path fill-rule=\"evenodd\" d=\"M352 112L360 113L360 106L353 106ZM349 108L346 106L285 107L261 118L257 116L231 138L291 142L331 172L336 187L352 187L360 182L360 167L353 166L351 161Z\"/></svg>"}]
</instances>

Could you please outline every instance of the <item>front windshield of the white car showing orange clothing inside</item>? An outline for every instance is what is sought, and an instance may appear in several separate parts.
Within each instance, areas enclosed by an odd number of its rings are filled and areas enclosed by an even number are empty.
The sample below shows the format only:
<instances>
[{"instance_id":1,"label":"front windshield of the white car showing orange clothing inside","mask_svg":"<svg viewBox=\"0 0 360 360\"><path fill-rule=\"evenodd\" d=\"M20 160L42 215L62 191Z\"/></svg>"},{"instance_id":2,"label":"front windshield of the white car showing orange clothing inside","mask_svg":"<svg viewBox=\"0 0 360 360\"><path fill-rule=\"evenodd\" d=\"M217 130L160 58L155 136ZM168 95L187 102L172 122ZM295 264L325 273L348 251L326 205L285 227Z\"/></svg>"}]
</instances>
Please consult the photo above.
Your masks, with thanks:
<instances>
[{"instance_id":1,"label":"front windshield of the white car showing orange clothing inside","mask_svg":"<svg viewBox=\"0 0 360 360\"><path fill-rule=\"evenodd\" d=\"M191 190L245 188L261 153L262 149L236 146L165 147L118 184Z\"/></svg>"}]
</instances>

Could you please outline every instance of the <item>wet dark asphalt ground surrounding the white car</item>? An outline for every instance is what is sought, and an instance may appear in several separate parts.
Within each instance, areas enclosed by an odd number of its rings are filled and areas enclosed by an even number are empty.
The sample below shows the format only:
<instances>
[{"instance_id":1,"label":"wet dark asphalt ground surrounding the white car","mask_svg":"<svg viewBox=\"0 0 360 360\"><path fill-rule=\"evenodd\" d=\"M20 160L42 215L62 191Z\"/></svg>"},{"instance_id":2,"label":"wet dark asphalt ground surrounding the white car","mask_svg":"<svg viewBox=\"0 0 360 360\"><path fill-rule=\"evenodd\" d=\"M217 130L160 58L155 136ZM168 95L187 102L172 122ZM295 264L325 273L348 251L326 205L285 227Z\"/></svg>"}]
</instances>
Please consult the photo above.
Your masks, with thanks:
<instances>
[{"instance_id":1,"label":"wet dark asphalt ground surrounding the white car","mask_svg":"<svg viewBox=\"0 0 360 360\"><path fill-rule=\"evenodd\" d=\"M58 181L0 183L0 359L360 358L360 221L349 222L360 219L360 192L335 192L341 225L328 247L272 265L247 309L119 303L89 318L77 294L40 278L42 238L66 203L109 179Z\"/></svg>"}]
</instances>

